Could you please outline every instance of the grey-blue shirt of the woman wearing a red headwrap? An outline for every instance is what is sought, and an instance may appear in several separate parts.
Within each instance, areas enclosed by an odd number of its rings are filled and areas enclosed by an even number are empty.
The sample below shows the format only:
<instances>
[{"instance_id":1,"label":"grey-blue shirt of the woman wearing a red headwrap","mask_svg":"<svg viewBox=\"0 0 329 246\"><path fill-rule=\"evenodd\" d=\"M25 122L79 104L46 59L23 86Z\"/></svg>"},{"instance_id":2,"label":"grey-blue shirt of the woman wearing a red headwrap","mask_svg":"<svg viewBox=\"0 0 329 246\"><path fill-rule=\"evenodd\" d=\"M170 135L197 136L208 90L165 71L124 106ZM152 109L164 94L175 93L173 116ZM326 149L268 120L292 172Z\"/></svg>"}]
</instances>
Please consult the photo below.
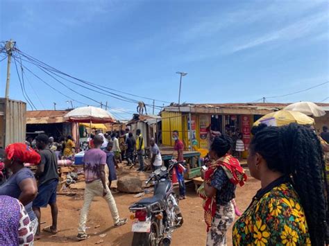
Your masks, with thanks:
<instances>
[{"instance_id":1,"label":"grey-blue shirt of the woman wearing a red headwrap","mask_svg":"<svg viewBox=\"0 0 329 246\"><path fill-rule=\"evenodd\" d=\"M11 175L9 179L0 186L0 195L8 195L10 197L14 197L18 199L19 195L21 195L22 191L21 188L19 188L19 184L24 179L35 179L33 173L28 168L22 168L17 173ZM35 213L32 210L32 202L27 204L25 206L26 212L28 212L28 217L30 217L30 220L35 219Z\"/></svg>"}]
</instances>

